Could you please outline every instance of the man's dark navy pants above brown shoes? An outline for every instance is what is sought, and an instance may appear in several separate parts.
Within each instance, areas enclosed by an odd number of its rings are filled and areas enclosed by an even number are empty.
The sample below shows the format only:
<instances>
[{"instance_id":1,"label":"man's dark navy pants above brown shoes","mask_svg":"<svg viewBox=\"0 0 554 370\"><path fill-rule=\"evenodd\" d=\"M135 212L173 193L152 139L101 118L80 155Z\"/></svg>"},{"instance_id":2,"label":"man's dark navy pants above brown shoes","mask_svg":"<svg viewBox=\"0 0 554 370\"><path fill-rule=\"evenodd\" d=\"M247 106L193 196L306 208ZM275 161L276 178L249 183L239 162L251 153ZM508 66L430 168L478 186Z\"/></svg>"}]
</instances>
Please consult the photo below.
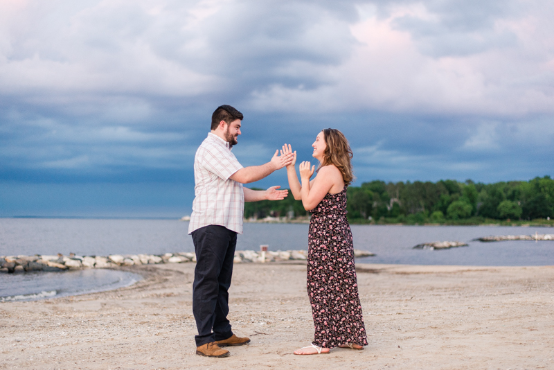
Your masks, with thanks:
<instances>
[{"instance_id":1,"label":"man's dark navy pants above brown shoes","mask_svg":"<svg viewBox=\"0 0 554 370\"><path fill-rule=\"evenodd\" d=\"M195 340L196 346L202 346L233 335L227 314L237 233L209 225L193 231L192 235L196 251L193 314L198 335Z\"/></svg>"}]
</instances>

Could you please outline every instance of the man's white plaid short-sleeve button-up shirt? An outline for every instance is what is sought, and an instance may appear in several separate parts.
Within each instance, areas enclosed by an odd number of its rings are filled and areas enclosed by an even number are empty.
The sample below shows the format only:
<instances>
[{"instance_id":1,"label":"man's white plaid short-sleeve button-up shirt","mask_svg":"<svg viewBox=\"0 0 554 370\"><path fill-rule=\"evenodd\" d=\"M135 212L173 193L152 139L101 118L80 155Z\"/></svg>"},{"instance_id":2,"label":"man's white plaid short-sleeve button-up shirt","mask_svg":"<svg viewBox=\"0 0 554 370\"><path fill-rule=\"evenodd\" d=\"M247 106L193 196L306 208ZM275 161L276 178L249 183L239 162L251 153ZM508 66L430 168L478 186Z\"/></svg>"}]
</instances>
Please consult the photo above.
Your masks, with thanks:
<instances>
[{"instance_id":1,"label":"man's white plaid short-sleeve button-up shirt","mask_svg":"<svg viewBox=\"0 0 554 370\"><path fill-rule=\"evenodd\" d=\"M188 234L211 224L242 234L242 184L229 179L241 168L229 143L208 133L195 155L195 200Z\"/></svg>"}]
</instances>

